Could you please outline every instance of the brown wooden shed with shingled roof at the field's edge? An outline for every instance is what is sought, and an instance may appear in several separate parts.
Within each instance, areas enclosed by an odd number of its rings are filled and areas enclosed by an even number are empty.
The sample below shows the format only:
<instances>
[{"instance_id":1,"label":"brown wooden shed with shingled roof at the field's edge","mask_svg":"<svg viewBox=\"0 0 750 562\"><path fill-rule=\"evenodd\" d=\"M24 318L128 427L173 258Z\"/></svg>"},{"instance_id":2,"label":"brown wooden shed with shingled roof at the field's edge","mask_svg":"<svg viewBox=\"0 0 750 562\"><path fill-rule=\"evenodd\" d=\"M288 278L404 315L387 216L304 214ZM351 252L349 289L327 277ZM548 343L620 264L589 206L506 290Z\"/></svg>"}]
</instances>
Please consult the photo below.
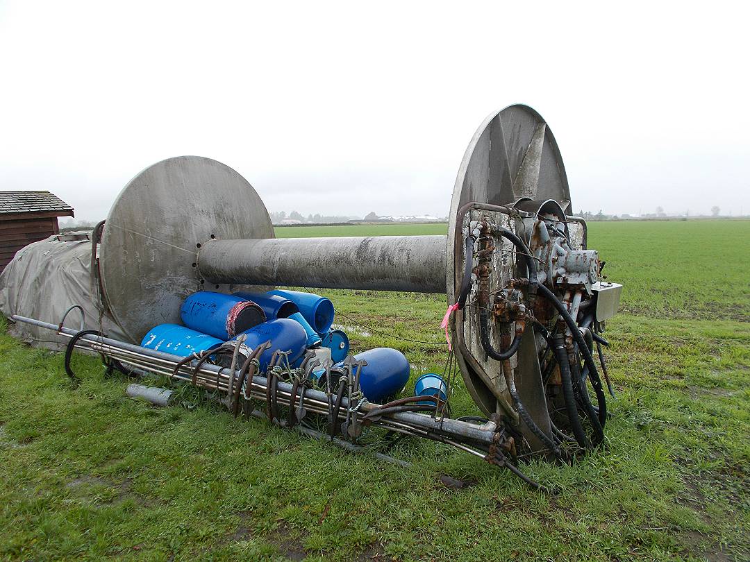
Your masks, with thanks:
<instances>
[{"instance_id":1,"label":"brown wooden shed with shingled roof at the field's edge","mask_svg":"<svg viewBox=\"0 0 750 562\"><path fill-rule=\"evenodd\" d=\"M0 191L0 271L27 244L59 234L57 217L73 216L49 191Z\"/></svg>"}]
</instances>

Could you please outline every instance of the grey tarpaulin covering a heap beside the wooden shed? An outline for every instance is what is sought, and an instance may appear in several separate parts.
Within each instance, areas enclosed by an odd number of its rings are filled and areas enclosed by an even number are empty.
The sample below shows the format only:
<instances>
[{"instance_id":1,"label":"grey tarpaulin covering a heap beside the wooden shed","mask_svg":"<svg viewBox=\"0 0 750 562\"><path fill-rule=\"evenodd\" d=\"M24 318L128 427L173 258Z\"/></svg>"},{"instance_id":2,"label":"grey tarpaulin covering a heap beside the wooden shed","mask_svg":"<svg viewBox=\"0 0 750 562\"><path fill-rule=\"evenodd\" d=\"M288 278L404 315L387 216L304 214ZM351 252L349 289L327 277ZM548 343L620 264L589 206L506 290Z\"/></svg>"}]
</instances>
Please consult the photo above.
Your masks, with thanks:
<instances>
[{"instance_id":1,"label":"grey tarpaulin covering a heap beside the wooden shed","mask_svg":"<svg viewBox=\"0 0 750 562\"><path fill-rule=\"evenodd\" d=\"M92 298L91 232L70 232L28 244L0 274L0 311L58 324L68 307L79 304L86 311L86 330L99 330L127 341L121 328L98 309L98 294ZM80 327L79 310L73 310L65 326ZM10 332L33 345L62 348L68 338L52 330L17 322Z\"/></svg>"}]
</instances>

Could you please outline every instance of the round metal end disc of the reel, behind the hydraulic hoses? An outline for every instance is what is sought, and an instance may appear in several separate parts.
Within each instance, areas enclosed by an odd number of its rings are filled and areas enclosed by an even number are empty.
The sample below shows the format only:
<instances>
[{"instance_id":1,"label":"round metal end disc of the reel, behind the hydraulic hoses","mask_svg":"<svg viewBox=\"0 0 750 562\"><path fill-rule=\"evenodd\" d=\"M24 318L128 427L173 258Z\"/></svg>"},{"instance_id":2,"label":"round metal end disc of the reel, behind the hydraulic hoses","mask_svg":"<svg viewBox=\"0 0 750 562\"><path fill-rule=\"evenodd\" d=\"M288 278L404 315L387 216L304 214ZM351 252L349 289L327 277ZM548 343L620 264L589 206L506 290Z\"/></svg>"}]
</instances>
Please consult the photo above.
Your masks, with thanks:
<instances>
[{"instance_id":1,"label":"round metal end disc of the reel, behind the hydraulic hoses","mask_svg":"<svg viewBox=\"0 0 750 562\"><path fill-rule=\"evenodd\" d=\"M511 205L520 198L554 199L564 211L570 209L568 178L552 132L533 109L514 105L484 120L466 148L458 170L446 251L449 303L455 303L463 277L463 247L455 244L454 235L457 227L459 232L461 229L461 225L456 224L460 220L459 209L468 202ZM457 324L458 320L452 322L454 341L458 338ZM532 339L527 341L529 358L536 364L531 351L535 344ZM520 354L523 352L522 349ZM461 351L460 345L455 346L455 353L472 398L485 414L493 414L498 402L497 389L495 392L490 389L479 375L478 365Z\"/></svg>"}]
</instances>

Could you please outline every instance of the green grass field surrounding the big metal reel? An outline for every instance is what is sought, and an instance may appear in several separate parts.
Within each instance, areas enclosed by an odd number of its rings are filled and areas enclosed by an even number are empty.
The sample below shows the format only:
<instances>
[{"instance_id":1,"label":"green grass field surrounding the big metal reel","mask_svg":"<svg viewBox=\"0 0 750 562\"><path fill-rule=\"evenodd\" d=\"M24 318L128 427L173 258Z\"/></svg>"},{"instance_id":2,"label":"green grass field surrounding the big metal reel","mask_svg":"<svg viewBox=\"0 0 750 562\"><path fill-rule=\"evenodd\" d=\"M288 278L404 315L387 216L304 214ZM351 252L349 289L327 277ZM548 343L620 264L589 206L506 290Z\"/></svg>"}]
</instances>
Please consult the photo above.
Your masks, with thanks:
<instances>
[{"instance_id":1,"label":"green grass field surrounding the big metal reel","mask_svg":"<svg viewBox=\"0 0 750 562\"><path fill-rule=\"evenodd\" d=\"M443 234L445 225L278 229L279 236ZM750 222L591 223L625 284L608 325L606 447L532 462L553 487L402 442L413 470L234 420L213 402L154 408L77 357L0 334L0 559L748 560ZM445 297L320 291L353 350L390 345L440 372ZM413 382L412 380L412 382ZM410 387L407 387L407 391ZM181 389L184 403L194 402ZM453 400L474 411L463 384ZM442 486L436 474L475 482Z\"/></svg>"}]
</instances>

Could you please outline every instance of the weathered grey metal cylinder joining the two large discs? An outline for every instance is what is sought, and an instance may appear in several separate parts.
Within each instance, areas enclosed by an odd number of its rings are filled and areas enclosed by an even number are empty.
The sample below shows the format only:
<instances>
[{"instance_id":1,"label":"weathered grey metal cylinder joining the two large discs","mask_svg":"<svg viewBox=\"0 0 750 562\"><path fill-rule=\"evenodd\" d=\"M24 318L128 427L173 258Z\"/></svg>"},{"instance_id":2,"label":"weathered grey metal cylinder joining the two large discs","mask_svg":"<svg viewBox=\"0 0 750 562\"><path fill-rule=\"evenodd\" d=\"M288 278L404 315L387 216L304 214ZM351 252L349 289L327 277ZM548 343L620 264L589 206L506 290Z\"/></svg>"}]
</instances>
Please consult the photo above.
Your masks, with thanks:
<instances>
[{"instance_id":1,"label":"weathered grey metal cylinder joining the two large discs","mask_svg":"<svg viewBox=\"0 0 750 562\"><path fill-rule=\"evenodd\" d=\"M446 237L211 240L198 268L211 283L445 293Z\"/></svg>"}]
</instances>

